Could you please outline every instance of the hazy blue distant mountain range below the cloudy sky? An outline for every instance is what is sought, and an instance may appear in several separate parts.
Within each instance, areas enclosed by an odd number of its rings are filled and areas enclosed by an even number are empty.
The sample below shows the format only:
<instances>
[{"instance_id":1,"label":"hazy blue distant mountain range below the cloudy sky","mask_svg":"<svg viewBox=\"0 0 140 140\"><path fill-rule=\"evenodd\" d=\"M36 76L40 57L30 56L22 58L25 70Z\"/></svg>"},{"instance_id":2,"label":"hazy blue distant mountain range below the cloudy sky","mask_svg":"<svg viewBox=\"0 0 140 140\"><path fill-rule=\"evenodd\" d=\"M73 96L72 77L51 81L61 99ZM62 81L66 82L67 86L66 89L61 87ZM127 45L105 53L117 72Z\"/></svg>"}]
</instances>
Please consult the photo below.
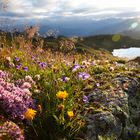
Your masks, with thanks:
<instances>
[{"instance_id":1,"label":"hazy blue distant mountain range below the cloudy sky","mask_svg":"<svg viewBox=\"0 0 140 140\"><path fill-rule=\"evenodd\" d=\"M23 25L39 25L40 34L46 35L49 29L57 29L59 35L64 36L91 36L91 35L108 35L108 34L122 34L140 39L140 21L138 19L120 19L108 18L102 20L95 19L40 19L17 21L13 25L3 24L3 29L17 28L23 30Z\"/></svg>"}]
</instances>

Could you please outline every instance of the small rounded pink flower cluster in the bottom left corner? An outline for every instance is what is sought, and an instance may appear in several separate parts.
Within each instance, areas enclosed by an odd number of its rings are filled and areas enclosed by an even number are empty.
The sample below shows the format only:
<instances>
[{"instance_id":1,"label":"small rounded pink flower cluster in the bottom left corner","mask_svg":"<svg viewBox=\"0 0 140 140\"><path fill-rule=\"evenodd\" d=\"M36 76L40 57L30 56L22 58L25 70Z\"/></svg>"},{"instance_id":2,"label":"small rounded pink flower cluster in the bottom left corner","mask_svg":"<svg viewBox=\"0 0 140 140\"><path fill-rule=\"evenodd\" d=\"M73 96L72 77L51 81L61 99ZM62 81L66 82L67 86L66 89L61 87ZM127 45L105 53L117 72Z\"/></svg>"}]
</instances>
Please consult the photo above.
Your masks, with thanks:
<instances>
[{"instance_id":1,"label":"small rounded pink flower cluster in the bottom left corner","mask_svg":"<svg viewBox=\"0 0 140 140\"><path fill-rule=\"evenodd\" d=\"M7 121L0 126L0 137L4 135L8 135L15 140L24 140L24 136L19 126L11 121Z\"/></svg>"}]
</instances>

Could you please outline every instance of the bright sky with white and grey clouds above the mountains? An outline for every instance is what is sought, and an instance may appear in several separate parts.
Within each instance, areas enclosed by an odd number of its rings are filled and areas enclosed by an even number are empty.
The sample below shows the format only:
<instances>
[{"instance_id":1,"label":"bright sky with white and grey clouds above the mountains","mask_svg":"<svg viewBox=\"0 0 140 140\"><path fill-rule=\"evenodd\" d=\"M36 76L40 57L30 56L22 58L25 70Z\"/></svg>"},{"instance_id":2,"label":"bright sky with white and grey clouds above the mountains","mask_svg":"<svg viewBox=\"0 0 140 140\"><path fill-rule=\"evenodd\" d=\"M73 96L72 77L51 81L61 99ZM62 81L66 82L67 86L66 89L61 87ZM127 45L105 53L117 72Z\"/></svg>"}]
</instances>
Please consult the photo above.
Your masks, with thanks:
<instances>
[{"instance_id":1,"label":"bright sky with white and grey clouds above the mountains","mask_svg":"<svg viewBox=\"0 0 140 140\"><path fill-rule=\"evenodd\" d=\"M8 1L0 18L66 19L139 18L139 0L0 0ZM0 6L2 7L2 5Z\"/></svg>"}]
</instances>

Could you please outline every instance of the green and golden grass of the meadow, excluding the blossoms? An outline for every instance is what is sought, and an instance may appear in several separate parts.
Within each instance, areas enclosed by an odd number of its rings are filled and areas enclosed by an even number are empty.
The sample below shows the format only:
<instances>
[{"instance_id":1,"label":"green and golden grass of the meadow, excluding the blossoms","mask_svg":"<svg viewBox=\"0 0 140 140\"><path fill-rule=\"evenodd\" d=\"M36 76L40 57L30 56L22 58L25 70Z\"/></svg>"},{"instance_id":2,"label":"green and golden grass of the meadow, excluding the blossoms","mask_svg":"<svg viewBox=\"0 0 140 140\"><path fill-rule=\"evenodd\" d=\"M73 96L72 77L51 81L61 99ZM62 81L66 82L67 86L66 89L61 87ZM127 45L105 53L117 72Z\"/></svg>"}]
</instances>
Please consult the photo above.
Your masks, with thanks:
<instances>
[{"instance_id":1,"label":"green and golden grass of the meadow, excluding the blossoms","mask_svg":"<svg viewBox=\"0 0 140 140\"><path fill-rule=\"evenodd\" d=\"M76 137L77 131L84 125L82 118L87 109L93 107L92 102L87 106L82 101L83 95L87 95L95 88L102 90L104 94L111 94L113 90L117 89L117 86L112 83L112 79L117 76L139 77L140 71L135 63L132 62L129 65L127 61L114 57L110 52L102 49L95 50L88 45L82 44L83 46L80 46L77 44L76 51L63 53L53 49L50 51L47 48L57 47L58 41L56 39L46 40L46 51L43 50L42 52L37 51L36 48L32 49L32 44L27 44L26 40L26 47L4 47L0 50L0 70L12 73L12 82L23 79L27 75L33 77L34 80L36 80L36 75L41 77L31 89L33 97L37 101L36 105L41 105L42 107L42 112L38 113L33 120L38 136L34 133L32 126L23 123L26 130L25 136L29 140L58 140L57 136L67 137L69 140L73 139L73 137ZM11 60L8 61L7 57L10 57ZM20 61L16 61L15 57L18 57ZM89 62L88 65L82 64L83 61ZM16 65L19 62L22 66L17 69ZM45 62L47 66L40 67L39 62ZM71 67L73 67L74 63L83 67L72 72ZM25 66L28 67L27 72L23 70ZM79 72L89 73L90 78L78 80ZM70 80L67 82L61 81L63 76L69 77ZM100 84L99 87L97 83ZM39 93L36 93L35 90L38 90ZM56 93L61 90L66 90L69 94L64 101L56 98ZM62 103L65 107L63 114L60 113L58 108ZM97 113L106 110L110 110L110 108L105 106L102 108L100 105L92 111ZM67 117L67 111L74 112L74 117L71 120ZM0 112L0 114L7 119L6 113ZM61 117L61 115L63 116ZM81 119L78 119L77 116L80 116ZM57 121L54 121L54 119ZM14 122L19 123L17 120L14 120ZM55 135L56 138L53 137Z\"/></svg>"}]
</instances>

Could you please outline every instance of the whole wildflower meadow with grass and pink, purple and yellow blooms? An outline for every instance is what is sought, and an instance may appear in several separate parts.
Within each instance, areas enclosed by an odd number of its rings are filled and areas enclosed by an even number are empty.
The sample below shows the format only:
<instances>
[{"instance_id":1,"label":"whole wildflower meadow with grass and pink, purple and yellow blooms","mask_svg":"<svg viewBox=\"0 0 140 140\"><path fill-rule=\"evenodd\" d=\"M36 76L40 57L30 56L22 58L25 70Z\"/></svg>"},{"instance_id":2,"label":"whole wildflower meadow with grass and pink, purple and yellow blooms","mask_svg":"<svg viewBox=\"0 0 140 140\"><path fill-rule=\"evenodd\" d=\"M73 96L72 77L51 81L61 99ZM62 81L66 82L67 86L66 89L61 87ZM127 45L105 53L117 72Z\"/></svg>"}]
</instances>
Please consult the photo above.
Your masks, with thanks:
<instances>
[{"instance_id":1,"label":"whole wildflower meadow with grass and pink, purple and yellow blooms","mask_svg":"<svg viewBox=\"0 0 140 140\"><path fill-rule=\"evenodd\" d=\"M111 112L100 101L90 101L89 93L101 90L111 96L118 88L112 82L115 77L140 78L135 62L103 49L76 46L72 39L50 41L51 47L44 47L40 38L38 44L24 36L13 36L8 45L7 38L4 41L0 48L2 140L82 140L88 114Z\"/></svg>"}]
</instances>

